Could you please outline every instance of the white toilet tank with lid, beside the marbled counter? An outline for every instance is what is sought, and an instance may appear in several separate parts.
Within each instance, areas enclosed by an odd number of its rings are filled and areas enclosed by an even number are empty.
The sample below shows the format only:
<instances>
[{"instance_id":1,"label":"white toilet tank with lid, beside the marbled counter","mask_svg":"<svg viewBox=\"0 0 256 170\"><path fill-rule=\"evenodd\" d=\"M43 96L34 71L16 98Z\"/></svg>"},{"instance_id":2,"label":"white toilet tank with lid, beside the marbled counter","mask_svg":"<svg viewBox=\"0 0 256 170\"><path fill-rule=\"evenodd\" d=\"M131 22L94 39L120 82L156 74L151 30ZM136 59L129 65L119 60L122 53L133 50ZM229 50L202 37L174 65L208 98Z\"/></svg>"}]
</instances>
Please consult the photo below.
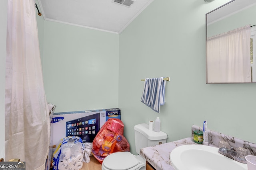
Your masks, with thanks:
<instances>
[{"instance_id":1,"label":"white toilet tank with lid, beside the marbled counter","mask_svg":"<svg viewBox=\"0 0 256 170\"><path fill-rule=\"evenodd\" d=\"M134 126L135 148L140 154L140 149L166 143L167 134L160 131L155 132L148 129L148 124L142 123Z\"/></svg>"}]
</instances>

